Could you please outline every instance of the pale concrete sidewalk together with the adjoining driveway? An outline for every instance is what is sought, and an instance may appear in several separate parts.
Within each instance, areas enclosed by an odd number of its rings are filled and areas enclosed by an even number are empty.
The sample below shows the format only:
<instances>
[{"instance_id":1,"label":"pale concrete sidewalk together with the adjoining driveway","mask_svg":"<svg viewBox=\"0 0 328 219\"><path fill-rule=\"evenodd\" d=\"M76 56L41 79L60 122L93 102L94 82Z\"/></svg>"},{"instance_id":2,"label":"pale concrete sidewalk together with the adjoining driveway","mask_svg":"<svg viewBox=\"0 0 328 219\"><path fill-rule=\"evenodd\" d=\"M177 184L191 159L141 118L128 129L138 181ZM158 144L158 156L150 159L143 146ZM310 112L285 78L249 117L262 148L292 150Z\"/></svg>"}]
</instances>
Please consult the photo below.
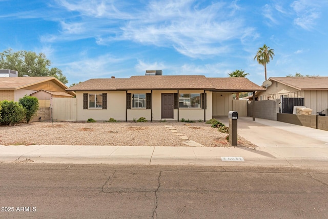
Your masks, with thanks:
<instances>
[{"instance_id":1,"label":"pale concrete sidewalk together with the adjoining driveway","mask_svg":"<svg viewBox=\"0 0 328 219\"><path fill-rule=\"evenodd\" d=\"M228 118L219 120L229 125ZM0 146L0 162L328 168L327 131L241 117L238 135L258 147Z\"/></svg>"}]
</instances>

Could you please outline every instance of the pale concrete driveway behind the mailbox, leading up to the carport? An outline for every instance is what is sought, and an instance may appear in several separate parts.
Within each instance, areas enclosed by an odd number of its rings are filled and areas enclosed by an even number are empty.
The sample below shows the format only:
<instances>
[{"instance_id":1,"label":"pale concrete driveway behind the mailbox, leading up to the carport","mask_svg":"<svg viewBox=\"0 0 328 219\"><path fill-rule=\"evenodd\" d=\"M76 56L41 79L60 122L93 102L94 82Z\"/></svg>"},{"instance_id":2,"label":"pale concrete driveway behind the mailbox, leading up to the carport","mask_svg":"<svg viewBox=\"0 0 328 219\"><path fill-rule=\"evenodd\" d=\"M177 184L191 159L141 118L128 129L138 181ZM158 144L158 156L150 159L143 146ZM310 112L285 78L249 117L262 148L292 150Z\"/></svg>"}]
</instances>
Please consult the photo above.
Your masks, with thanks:
<instances>
[{"instance_id":1,"label":"pale concrete driveway behind the mailbox, leading up to the carport","mask_svg":"<svg viewBox=\"0 0 328 219\"><path fill-rule=\"evenodd\" d=\"M228 117L217 119L229 126ZM252 117L239 117L237 123L238 135L273 157L328 158L327 131Z\"/></svg>"}]
</instances>

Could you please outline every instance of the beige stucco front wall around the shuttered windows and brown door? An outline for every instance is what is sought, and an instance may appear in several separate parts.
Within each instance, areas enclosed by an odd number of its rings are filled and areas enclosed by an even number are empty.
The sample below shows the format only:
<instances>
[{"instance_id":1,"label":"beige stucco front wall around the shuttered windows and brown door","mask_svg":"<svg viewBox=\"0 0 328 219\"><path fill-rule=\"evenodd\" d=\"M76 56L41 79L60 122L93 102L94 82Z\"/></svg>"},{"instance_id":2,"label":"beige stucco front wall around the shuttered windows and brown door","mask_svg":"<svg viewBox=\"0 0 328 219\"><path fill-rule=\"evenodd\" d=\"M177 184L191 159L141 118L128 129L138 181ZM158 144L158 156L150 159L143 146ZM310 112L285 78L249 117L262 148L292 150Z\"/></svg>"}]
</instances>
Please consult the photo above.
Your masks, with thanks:
<instances>
[{"instance_id":1,"label":"beige stucco front wall around the shuttered windows and brown door","mask_svg":"<svg viewBox=\"0 0 328 219\"><path fill-rule=\"evenodd\" d=\"M109 118L114 118L118 121L133 121L140 117L145 117L148 121L160 121L161 117L161 94L176 93L172 90L154 90L152 91L152 109L126 109L126 93L151 93L151 90L128 90L128 91L89 91L88 94L107 93L107 109L83 109L83 94L85 91L76 92L76 120L87 121L88 118L93 118L96 121L107 121ZM202 93L202 90L179 90L179 93ZM212 92L207 93L207 109L206 120L212 118ZM204 109L174 109L173 118L165 118L166 121L177 121L181 118L186 120L204 120ZM178 115L179 114L179 115ZM228 115L228 113L227 113Z\"/></svg>"}]
</instances>

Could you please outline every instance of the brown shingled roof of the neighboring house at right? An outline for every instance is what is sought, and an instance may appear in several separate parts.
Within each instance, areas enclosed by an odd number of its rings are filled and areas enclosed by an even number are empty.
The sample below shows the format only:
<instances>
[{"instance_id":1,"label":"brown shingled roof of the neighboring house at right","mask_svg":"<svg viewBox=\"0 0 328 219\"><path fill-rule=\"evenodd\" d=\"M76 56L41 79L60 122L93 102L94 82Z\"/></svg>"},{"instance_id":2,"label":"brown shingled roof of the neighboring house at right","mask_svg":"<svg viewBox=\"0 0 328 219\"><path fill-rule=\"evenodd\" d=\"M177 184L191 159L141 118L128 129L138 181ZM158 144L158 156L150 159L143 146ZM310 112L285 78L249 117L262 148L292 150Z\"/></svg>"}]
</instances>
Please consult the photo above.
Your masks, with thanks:
<instances>
[{"instance_id":1,"label":"brown shingled roof of the neighboring house at right","mask_svg":"<svg viewBox=\"0 0 328 219\"><path fill-rule=\"evenodd\" d=\"M328 77L270 77L269 80L298 90L328 90Z\"/></svg>"}]
</instances>

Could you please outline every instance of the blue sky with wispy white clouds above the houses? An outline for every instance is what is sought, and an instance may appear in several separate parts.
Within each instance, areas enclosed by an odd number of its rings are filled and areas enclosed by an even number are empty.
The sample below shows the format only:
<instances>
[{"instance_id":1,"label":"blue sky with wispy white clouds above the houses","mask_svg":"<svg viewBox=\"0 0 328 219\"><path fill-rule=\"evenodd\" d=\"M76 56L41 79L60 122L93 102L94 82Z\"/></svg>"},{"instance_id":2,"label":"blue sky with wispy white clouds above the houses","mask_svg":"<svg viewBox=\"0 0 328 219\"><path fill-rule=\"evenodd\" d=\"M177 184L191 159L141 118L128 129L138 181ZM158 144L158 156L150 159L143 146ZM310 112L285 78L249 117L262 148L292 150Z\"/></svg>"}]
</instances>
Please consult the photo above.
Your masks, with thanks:
<instances>
[{"instance_id":1,"label":"blue sky with wispy white clouds above the houses","mask_svg":"<svg viewBox=\"0 0 328 219\"><path fill-rule=\"evenodd\" d=\"M228 77L274 49L268 78L328 76L328 0L0 0L0 51L43 52L70 85L144 75Z\"/></svg>"}]
</instances>

